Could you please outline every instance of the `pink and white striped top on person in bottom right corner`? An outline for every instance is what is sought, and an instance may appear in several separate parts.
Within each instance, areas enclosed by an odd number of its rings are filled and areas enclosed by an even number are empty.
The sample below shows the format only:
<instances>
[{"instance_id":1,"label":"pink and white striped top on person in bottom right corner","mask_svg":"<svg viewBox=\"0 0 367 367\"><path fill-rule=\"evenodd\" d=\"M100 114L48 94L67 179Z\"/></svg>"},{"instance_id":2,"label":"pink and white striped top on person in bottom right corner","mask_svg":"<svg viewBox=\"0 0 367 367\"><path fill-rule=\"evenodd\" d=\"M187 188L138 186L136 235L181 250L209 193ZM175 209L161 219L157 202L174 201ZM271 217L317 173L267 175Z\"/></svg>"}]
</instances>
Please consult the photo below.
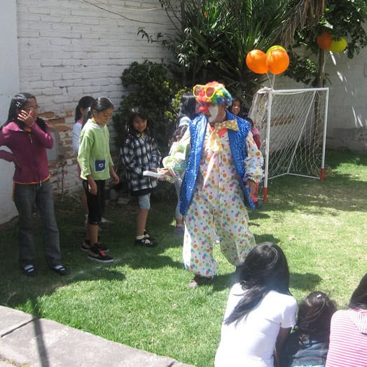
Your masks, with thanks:
<instances>
[{"instance_id":1,"label":"pink and white striped top on person in bottom right corner","mask_svg":"<svg viewBox=\"0 0 367 367\"><path fill-rule=\"evenodd\" d=\"M340 310L331 318L326 367L367 366L367 310Z\"/></svg>"}]
</instances>

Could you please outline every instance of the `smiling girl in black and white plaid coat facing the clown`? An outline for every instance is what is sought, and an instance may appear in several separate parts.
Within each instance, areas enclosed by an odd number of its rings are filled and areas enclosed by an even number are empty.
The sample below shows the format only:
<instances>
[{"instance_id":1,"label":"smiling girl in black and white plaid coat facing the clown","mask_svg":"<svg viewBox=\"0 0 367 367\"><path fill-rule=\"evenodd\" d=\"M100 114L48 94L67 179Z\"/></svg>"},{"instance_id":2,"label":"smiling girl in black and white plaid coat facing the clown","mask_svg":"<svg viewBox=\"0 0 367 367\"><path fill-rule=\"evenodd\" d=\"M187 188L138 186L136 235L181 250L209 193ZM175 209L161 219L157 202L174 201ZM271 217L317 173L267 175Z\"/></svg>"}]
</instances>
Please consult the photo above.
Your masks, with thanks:
<instances>
[{"instance_id":1,"label":"smiling girl in black and white plaid coat facing the clown","mask_svg":"<svg viewBox=\"0 0 367 367\"><path fill-rule=\"evenodd\" d=\"M143 176L143 172L157 172L160 151L155 139L148 132L148 116L141 107L130 110L128 122L129 134L123 142L122 159L130 194L139 199L135 245L155 247L158 243L146 233L145 226L151 208L151 191L157 186L157 179Z\"/></svg>"}]
</instances>

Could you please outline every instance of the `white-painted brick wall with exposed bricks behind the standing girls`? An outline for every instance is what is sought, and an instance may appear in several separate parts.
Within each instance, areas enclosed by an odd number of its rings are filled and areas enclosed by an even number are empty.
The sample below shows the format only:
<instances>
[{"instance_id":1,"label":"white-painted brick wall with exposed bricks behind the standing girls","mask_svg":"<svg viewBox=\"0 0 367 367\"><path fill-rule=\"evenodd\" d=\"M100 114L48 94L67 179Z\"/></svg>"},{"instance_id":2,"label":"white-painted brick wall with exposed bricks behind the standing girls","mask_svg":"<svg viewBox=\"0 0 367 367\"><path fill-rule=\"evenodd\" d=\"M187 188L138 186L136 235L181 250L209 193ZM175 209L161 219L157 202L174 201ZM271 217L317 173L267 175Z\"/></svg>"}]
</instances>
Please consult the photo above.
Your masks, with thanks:
<instances>
[{"instance_id":1,"label":"white-painted brick wall with exposed bricks behind the standing girls","mask_svg":"<svg viewBox=\"0 0 367 367\"><path fill-rule=\"evenodd\" d=\"M141 39L138 27L149 34L170 32L169 20L153 0L18 0L17 18L20 90L36 95L53 130L53 187L60 192L64 176L64 191L73 191L80 186L71 148L78 100L103 95L117 109L123 69L133 61L169 57Z\"/></svg>"}]
</instances>

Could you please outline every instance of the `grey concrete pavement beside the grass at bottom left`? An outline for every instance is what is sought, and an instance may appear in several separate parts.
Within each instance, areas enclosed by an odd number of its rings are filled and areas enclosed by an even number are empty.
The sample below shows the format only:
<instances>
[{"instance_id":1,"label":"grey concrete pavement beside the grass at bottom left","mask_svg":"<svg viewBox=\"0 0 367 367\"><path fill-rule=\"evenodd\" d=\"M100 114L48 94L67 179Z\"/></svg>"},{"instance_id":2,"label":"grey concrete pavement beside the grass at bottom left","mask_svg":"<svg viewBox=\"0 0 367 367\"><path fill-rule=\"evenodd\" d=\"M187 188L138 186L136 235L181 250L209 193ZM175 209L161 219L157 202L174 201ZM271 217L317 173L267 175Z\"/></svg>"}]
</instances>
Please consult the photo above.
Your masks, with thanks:
<instances>
[{"instance_id":1,"label":"grey concrete pavement beside the grass at bottom left","mask_svg":"<svg viewBox=\"0 0 367 367\"><path fill-rule=\"evenodd\" d=\"M8 366L189 367L0 305L0 367Z\"/></svg>"}]
</instances>

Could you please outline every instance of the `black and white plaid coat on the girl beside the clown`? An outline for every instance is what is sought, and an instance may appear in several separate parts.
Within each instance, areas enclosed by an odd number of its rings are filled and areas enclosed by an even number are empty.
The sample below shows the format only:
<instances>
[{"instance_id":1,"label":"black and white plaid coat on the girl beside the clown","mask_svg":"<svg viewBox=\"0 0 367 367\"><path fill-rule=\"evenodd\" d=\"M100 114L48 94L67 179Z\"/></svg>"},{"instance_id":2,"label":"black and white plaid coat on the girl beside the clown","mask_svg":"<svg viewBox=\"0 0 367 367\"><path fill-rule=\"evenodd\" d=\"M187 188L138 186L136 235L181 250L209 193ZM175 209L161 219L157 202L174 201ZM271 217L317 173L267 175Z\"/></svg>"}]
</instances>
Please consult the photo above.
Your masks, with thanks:
<instances>
[{"instance_id":1,"label":"black and white plaid coat on the girl beside the clown","mask_svg":"<svg viewBox=\"0 0 367 367\"><path fill-rule=\"evenodd\" d=\"M157 179L143 176L144 171L155 171L160 165L160 151L152 137L146 134L137 134L137 137L130 135L123 143L121 155L132 193L147 193L157 186Z\"/></svg>"}]
</instances>

